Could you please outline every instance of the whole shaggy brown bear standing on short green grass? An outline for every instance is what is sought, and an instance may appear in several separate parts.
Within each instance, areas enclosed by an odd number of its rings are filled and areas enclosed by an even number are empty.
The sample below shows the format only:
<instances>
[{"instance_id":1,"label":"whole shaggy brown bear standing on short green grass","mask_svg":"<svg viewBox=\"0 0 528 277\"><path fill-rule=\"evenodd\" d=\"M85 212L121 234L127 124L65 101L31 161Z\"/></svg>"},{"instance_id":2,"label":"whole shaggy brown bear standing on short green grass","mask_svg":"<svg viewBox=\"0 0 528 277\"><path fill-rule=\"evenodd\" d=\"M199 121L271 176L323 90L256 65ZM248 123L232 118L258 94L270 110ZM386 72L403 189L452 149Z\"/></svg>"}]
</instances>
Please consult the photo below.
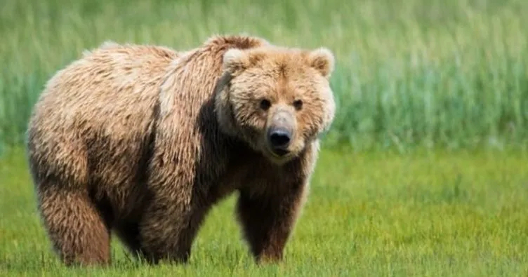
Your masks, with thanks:
<instances>
[{"instance_id":1,"label":"whole shaggy brown bear standing on short green grass","mask_svg":"<svg viewBox=\"0 0 528 277\"><path fill-rule=\"evenodd\" d=\"M67 265L110 264L110 232L187 262L211 206L237 191L256 262L278 262L334 119L334 55L259 37L176 51L104 46L53 76L27 131L38 208Z\"/></svg>"}]
</instances>

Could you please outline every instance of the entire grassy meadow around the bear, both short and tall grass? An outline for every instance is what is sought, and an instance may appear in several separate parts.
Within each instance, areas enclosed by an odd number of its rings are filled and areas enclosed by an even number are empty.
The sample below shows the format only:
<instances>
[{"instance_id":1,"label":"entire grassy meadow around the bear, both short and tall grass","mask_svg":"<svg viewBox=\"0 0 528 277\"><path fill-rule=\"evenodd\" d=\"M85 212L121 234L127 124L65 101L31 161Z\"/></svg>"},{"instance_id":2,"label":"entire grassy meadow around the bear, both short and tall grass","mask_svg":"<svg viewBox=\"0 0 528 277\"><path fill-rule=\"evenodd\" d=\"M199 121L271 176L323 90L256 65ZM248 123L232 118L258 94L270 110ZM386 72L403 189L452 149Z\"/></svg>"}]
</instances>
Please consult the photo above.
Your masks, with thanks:
<instances>
[{"instance_id":1,"label":"entire grassy meadow around the bear, both short and tall grass","mask_svg":"<svg viewBox=\"0 0 528 277\"><path fill-rule=\"evenodd\" d=\"M105 1L0 4L1 276L528 276L528 1ZM336 119L284 263L253 263L232 197L187 266L118 241L109 269L59 264L22 145L46 80L106 40L237 33L336 55Z\"/></svg>"}]
</instances>

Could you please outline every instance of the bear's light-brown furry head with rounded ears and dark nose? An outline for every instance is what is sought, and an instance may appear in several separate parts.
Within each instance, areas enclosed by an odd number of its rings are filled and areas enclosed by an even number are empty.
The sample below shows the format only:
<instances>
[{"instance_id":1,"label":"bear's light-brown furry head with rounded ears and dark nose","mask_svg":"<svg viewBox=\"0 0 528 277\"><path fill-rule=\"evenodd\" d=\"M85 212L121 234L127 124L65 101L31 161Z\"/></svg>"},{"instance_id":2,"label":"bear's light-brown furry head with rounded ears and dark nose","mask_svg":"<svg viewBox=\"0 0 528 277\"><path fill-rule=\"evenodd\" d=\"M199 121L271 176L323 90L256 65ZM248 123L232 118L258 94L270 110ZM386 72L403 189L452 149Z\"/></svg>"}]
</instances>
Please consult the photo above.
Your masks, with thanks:
<instances>
[{"instance_id":1,"label":"bear's light-brown furry head with rounded ears and dark nose","mask_svg":"<svg viewBox=\"0 0 528 277\"><path fill-rule=\"evenodd\" d=\"M227 50L216 91L220 129L272 162L290 161L334 119L333 70L326 48Z\"/></svg>"}]
</instances>

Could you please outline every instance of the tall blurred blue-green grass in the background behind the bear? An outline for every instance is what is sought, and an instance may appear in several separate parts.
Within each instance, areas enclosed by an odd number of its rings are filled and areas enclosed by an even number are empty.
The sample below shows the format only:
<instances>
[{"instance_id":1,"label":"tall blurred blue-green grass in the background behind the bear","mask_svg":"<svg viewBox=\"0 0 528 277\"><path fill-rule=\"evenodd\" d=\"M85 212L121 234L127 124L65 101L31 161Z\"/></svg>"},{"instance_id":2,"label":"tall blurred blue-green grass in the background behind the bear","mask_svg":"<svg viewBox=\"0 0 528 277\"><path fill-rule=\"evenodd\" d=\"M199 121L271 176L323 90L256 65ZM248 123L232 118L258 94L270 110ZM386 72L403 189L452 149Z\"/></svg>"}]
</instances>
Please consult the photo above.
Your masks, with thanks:
<instances>
[{"instance_id":1,"label":"tall blurred blue-green grass in the background behind the bear","mask_svg":"<svg viewBox=\"0 0 528 277\"><path fill-rule=\"evenodd\" d=\"M215 33L336 54L326 145L528 144L525 0L4 0L0 144L18 144L56 70L107 39L196 47Z\"/></svg>"}]
</instances>

